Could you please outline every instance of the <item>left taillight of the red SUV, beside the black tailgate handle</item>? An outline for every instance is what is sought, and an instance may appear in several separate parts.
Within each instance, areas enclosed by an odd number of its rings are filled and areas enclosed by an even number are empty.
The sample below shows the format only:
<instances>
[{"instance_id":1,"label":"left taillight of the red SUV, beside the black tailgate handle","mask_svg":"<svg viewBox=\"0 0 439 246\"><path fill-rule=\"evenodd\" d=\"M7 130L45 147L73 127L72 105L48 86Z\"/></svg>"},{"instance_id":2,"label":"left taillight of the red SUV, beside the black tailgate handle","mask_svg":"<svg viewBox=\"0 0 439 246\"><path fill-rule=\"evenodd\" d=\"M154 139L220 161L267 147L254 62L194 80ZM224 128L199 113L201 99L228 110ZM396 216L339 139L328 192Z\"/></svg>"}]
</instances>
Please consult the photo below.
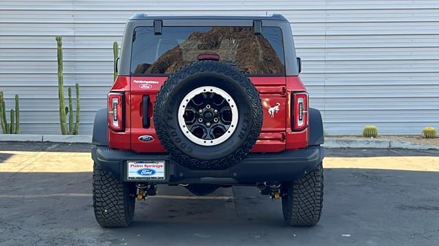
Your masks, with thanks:
<instances>
[{"instance_id":1,"label":"left taillight of the red SUV, beside the black tailgate handle","mask_svg":"<svg viewBox=\"0 0 439 246\"><path fill-rule=\"evenodd\" d=\"M123 126L123 94L108 93L108 127L113 131L124 131Z\"/></svg>"}]
</instances>

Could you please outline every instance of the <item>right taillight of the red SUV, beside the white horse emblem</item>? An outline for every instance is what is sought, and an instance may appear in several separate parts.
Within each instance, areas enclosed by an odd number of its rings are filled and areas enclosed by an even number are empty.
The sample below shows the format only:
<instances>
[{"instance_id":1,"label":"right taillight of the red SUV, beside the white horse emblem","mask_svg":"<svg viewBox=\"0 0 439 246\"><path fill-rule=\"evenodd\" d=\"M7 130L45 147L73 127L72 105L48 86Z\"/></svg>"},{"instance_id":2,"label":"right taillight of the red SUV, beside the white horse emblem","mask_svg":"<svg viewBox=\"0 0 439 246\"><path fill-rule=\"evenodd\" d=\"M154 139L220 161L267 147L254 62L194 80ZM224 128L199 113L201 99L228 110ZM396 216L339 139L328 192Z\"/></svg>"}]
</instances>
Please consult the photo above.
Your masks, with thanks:
<instances>
[{"instance_id":1,"label":"right taillight of the red SUV, beside the white horse emblem","mask_svg":"<svg viewBox=\"0 0 439 246\"><path fill-rule=\"evenodd\" d=\"M294 93L292 102L292 128L301 131L308 126L308 94L307 92Z\"/></svg>"}]
</instances>

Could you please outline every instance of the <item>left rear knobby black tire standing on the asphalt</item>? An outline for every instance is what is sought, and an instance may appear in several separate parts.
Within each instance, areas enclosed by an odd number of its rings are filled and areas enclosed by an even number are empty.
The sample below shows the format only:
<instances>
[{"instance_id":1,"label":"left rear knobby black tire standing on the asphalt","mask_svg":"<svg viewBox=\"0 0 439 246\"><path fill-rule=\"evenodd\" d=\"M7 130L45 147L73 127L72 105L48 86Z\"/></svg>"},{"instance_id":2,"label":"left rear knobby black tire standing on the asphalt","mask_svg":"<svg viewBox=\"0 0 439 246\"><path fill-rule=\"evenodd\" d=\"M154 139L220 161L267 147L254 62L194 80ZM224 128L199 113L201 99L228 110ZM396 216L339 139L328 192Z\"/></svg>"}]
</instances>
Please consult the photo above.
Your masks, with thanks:
<instances>
[{"instance_id":1,"label":"left rear knobby black tire standing on the asphalt","mask_svg":"<svg viewBox=\"0 0 439 246\"><path fill-rule=\"evenodd\" d=\"M104 228L126 227L134 217L134 184L120 182L93 165L93 208Z\"/></svg>"}]
</instances>

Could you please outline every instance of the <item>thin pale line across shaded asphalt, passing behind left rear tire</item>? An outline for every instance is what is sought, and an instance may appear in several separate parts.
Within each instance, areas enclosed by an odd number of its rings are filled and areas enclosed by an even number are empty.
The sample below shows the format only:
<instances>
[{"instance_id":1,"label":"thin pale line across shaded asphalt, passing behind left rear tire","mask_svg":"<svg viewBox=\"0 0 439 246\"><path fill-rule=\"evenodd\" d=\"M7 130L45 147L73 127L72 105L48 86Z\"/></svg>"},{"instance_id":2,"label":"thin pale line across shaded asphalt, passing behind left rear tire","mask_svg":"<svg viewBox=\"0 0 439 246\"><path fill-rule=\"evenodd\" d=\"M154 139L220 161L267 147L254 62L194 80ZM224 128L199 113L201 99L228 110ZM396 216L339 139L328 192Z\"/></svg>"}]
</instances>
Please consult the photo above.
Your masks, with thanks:
<instances>
[{"instance_id":1,"label":"thin pale line across shaded asphalt, passing behind left rear tire","mask_svg":"<svg viewBox=\"0 0 439 246\"><path fill-rule=\"evenodd\" d=\"M41 198L41 197L91 197L91 193L54 193L42 195L0 195L0 198ZM233 200L233 197L217 196L217 197L202 197L189 195L153 195L148 198L161 199L178 199L178 200Z\"/></svg>"}]
</instances>

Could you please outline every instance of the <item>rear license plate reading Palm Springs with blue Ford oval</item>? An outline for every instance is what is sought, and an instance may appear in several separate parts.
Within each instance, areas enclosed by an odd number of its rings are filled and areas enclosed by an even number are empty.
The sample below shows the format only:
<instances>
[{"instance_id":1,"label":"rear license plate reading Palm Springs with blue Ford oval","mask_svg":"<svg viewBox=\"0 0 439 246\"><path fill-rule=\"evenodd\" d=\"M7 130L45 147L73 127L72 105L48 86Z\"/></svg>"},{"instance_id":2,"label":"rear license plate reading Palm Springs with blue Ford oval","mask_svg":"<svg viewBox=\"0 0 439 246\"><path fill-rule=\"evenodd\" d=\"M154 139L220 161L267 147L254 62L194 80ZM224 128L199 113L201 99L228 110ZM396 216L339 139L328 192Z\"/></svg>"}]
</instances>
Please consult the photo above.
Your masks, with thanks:
<instances>
[{"instance_id":1,"label":"rear license plate reading Palm Springs with blue Ford oval","mask_svg":"<svg viewBox=\"0 0 439 246\"><path fill-rule=\"evenodd\" d=\"M127 161L128 180L165 180L165 161Z\"/></svg>"}]
</instances>

